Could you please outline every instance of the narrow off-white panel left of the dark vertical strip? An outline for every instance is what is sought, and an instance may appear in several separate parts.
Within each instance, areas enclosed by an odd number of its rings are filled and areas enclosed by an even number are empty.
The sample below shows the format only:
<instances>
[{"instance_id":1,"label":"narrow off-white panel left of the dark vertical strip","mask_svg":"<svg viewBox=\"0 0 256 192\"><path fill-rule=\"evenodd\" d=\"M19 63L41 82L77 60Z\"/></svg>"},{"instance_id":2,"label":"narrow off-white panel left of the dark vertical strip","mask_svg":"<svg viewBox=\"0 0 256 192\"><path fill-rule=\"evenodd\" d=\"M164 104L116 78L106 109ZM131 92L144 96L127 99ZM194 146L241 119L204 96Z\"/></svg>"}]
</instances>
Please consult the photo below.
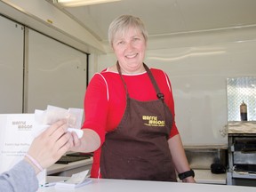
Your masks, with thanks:
<instances>
[{"instance_id":1,"label":"narrow off-white panel left of the dark vertical strip","mask_svg":"<svg viewBox=\"0 0 256 192\"><path fill-rule=\"evenodd\" d=\"M21 113L24 27L0 16L0 113Z\"/></svg>"}]
</instances>

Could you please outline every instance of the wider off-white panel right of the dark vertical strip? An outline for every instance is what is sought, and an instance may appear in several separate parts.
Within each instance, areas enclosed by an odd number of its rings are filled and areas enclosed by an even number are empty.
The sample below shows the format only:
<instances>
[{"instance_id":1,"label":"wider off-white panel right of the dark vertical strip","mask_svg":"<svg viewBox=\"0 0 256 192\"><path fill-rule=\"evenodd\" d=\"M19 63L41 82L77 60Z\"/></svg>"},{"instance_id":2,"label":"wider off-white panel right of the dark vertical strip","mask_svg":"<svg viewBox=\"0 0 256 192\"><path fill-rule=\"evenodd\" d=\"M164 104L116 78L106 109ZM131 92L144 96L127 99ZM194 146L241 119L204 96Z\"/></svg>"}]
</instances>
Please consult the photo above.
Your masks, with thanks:
<instances>
[{"instance_id":1,"label":"wider off-white panel right of the dark vertical strip","mask_svg":"<svg viewBox=\"0 0 256 192\"><path fill-rule=\"evenodd\" d=\"M86 53L28 29L28 113L47 105L84 108L86 66Z\"/></svg>"}]
</instances>

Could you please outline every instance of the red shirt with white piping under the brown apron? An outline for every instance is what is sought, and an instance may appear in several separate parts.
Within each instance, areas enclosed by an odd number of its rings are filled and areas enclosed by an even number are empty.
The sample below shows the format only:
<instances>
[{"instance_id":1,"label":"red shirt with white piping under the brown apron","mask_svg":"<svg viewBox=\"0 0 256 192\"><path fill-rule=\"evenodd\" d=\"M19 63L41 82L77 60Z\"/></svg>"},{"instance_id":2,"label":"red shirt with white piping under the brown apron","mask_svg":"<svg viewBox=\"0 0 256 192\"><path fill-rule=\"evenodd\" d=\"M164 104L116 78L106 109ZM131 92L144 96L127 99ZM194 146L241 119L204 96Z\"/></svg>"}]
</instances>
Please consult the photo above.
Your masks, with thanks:
<instances>
[{"instance_id":1,"label":"red shirt with white piping under the brown apron","mask_svg":"<svg viewBox=\"0 0 256 192\"><path fill-rule=\"evenodd\" d=\"M159 89L164 93L164 102L170 108L173 116L170 138L179 134L174 121L174 103L172 87L164 71L150 68ZM140 74L123 74L125 84L132 99L147 101L157 100L156 90L151 83L147 72ZM120 75L108 69L92 77L84 98L84 124L100 136L101 144L105 140L105 133L116 129L120 123L126 106L124 84ZM100 175L100 148L94 152L92 164L92 177Z\"/></svg>"}]
</instances>

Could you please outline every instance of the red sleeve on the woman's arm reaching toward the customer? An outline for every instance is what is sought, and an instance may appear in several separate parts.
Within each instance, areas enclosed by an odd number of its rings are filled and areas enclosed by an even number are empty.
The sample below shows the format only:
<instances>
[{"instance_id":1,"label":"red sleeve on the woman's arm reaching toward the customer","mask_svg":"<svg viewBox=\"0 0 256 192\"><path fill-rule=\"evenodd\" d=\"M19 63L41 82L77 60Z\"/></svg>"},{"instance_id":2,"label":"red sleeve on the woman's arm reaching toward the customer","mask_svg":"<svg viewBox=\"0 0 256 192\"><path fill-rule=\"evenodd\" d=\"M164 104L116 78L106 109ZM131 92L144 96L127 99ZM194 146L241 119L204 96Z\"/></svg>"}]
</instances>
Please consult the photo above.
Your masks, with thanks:
<instances>
[{"instance_id":1,"label":"red sleeve on the woman's arm reaching toward the customer","mask_svg":"<svg viewBox=\"0 0 256 192\"><path fill-rule=\"evenodd\" d=\"M108 112L108 92L106 82L100 74L92 76L84 97L84 116L82 129L97 132L101 143L105 140L105 125Z\"/></svg>"}]
</instances>

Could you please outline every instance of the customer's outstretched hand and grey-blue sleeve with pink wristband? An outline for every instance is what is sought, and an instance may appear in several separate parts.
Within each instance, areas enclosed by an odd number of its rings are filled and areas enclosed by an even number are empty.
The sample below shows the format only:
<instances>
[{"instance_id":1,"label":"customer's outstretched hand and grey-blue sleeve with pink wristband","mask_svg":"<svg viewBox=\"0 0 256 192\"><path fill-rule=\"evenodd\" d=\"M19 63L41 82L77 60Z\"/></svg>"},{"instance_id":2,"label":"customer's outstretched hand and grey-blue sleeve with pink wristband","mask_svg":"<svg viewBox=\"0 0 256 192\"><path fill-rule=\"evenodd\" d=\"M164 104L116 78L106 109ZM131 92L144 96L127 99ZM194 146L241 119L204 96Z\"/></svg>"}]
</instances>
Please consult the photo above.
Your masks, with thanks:
<instances>
[{"instance_id":1,"label":"customer's outstretched hand and grey-blue sleeve with pink wristband","mask_svg":"<svg viewBox=\"0 0 256 192\"><path fill-rule=\"evenodd\" d=\"M0 175L0 191L36 191L36 174L54 164L72 147L72 136L67 130L66 121L60 120L37 136L24 159Z\"/></svg>"}]
</instances>

